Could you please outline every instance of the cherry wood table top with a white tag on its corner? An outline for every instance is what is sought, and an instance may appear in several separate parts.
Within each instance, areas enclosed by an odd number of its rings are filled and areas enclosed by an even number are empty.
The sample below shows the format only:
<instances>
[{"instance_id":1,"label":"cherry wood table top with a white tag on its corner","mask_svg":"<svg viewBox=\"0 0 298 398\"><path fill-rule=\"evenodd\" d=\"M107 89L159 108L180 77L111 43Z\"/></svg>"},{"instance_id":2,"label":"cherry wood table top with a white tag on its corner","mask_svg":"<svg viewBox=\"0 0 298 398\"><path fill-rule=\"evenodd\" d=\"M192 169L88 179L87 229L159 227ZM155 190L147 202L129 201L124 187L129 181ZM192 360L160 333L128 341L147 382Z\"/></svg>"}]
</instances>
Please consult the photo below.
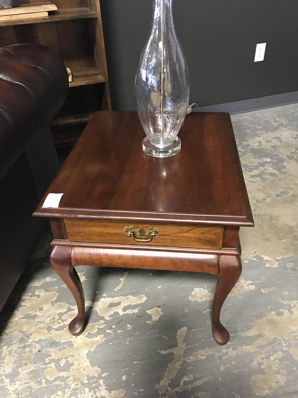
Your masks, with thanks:
<instances>
[{"instance_id":1,"label":"cherry wood table top with a white tag on its corner","mask_svg":"<svg viewBox=\"0 0 298 398\"><path fill-rule=\"evenodd\" d=\"M96 112L34 215L253 226L228 113L187 115L172 157L146 155L144 137L137 112Z\"/></svg>"}]
</instances>

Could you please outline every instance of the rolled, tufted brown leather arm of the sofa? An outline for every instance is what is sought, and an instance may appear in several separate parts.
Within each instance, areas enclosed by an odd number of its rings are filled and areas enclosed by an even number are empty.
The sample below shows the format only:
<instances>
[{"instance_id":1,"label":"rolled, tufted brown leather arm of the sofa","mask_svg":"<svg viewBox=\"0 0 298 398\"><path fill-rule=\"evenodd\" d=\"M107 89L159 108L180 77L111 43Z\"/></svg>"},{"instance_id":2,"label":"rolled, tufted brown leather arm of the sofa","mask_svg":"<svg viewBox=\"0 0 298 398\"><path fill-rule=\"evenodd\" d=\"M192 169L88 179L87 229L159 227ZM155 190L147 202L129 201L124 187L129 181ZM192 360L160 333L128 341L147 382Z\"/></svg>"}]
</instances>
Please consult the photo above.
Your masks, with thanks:
<instances>
[{"instance_id":1,"label":"rolled, tufted brown leather arm of the sofa","mask_svg":"<svg viewBox=\"0 0 298 398\"><path fill-rule=\"evenodd\" d=\"M40 44L0 48L0 179L62 107L66 67Z\"/></svg>"}]
</instances>

